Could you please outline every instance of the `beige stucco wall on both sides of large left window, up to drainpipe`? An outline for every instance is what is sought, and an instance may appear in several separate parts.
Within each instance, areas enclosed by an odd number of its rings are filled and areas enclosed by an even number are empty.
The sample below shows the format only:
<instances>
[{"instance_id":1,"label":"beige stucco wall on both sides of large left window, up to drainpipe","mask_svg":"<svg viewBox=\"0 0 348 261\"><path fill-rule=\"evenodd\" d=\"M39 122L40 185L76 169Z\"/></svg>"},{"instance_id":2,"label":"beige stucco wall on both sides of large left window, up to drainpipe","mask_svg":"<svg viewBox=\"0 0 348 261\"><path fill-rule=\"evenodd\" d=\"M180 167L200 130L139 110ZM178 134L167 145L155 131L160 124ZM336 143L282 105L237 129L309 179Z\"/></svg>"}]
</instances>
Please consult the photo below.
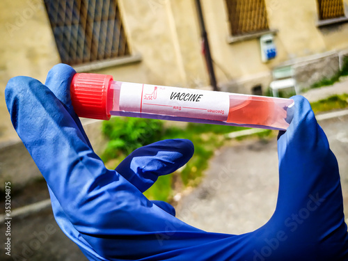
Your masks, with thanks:
<instances>
[{"instance_id":1,"label":"beige stucco wall on both sides of large left window, up to drainpipe","mask_svg":"<svg viewBox=\"0 0 348 261\"><path fill-rule=\"evenodd\" d=\"M207 85L193 1L119 0L119 4L132 54L141 54L142 61L92 72L145 84ZM4 102L8 79L26 75L44 82L60 58L43 1L0 1L0 25L0 143L8 143L18 139Z\"/></svg>"}]
</instances>

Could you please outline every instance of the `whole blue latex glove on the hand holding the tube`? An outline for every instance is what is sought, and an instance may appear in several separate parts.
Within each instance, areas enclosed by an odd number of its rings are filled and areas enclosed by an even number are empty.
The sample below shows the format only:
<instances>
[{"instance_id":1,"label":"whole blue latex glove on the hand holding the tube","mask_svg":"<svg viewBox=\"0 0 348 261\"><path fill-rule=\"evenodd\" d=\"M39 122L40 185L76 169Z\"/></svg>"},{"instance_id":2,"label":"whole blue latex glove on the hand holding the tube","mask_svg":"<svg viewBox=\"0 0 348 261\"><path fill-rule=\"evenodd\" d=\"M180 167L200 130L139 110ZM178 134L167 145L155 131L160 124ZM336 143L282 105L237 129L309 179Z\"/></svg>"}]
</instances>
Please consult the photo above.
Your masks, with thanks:
<instances>
[{"instance_id":1,"label":"whole blue latex glove on the hand holding the tube","mask_svg":"<svg viewBox=\"0 0 348 261\"><path fill-rule=\"evenodd\" d=\"M58 225L90 260L348 260L340 176L310 105L293 97L278 139L280 186L269 222L244 235L193 228L171 205L143 191L193 154L187 140L135 150L107 170L70 102L74 70L56 65L41 84L15 77L6 87L13 126L47 181Z\"/></svg>"}]
</instances>

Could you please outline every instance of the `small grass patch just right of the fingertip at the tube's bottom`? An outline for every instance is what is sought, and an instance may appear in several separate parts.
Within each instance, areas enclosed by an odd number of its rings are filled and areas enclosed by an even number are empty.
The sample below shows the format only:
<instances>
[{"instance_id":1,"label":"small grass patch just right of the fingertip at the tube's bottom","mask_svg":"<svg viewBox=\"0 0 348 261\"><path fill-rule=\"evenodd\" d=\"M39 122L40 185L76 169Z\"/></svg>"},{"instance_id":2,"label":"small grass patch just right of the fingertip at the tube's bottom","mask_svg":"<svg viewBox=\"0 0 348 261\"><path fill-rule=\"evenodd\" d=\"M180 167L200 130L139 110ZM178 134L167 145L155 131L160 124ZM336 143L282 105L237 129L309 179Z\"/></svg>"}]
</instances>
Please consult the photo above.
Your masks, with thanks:
<instances>
[{"instance_id":1,"label":"small grass patch just right of the fingertip at the tube's bottom","mask_svg":"<svg viewBox=\"0 0 348 261\"><path fill-rule=\"evenodd\" d=\"M332 111L335 109L345 109L348 107L348 94L332 95L324 100L311 102L310 105L314 113Z\"/></svg>"}]
</instances>

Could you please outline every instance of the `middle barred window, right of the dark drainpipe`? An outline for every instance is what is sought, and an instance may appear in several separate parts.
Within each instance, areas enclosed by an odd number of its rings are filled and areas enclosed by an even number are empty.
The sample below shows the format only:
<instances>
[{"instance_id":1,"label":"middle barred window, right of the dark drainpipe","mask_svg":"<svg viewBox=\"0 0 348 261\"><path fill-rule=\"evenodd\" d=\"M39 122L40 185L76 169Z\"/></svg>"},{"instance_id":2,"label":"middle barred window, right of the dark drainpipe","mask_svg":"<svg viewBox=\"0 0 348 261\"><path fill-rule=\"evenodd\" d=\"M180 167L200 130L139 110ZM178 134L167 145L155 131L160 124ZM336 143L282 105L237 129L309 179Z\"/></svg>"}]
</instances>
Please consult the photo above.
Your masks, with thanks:
<instances>
[{"instance_id":1,"label":"middle barred window, right of the dark drainpipe","mask_svg":"<svg viewBox=\"0 0 348 261\"><path fill-rule=\"evenodd\" d=\"M269 30L264 0L226 0L233 36Z\"/></svg>"}]
</instances>

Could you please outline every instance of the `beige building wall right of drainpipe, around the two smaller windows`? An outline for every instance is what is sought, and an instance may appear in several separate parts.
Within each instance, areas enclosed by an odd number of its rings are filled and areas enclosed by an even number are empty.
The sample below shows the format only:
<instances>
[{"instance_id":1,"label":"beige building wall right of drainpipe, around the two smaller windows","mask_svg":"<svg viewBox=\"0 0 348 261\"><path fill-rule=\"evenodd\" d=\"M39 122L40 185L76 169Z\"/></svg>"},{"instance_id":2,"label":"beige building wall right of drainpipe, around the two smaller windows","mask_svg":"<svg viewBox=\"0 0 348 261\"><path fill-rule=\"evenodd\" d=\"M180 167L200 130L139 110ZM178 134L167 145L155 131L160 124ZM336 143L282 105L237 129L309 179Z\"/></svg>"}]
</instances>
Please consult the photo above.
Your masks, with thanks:
<instances>
[{"instance_id":1,"label":"beige building wall right of drainpipe, around the two smaller windows","mask_svg":"<svg viewBox=\"0 0 348 261\"><path fill-rule=\"evenodd\" d=\"M344 2L347 14L348 1ZM282 63L297 63L305 56L315 59L315 55L348 49L348 23L317 27L316 1L265 3L269 28L278 30L274 36L278 55L269 63L261 61L259 38L227 42L230 31L225 0L202 0L212 56L219 65L215 66L216 76L223 90L251 93L251 88L258 84L267 88L271 70Z\"/></svg>"}]
</instances>

